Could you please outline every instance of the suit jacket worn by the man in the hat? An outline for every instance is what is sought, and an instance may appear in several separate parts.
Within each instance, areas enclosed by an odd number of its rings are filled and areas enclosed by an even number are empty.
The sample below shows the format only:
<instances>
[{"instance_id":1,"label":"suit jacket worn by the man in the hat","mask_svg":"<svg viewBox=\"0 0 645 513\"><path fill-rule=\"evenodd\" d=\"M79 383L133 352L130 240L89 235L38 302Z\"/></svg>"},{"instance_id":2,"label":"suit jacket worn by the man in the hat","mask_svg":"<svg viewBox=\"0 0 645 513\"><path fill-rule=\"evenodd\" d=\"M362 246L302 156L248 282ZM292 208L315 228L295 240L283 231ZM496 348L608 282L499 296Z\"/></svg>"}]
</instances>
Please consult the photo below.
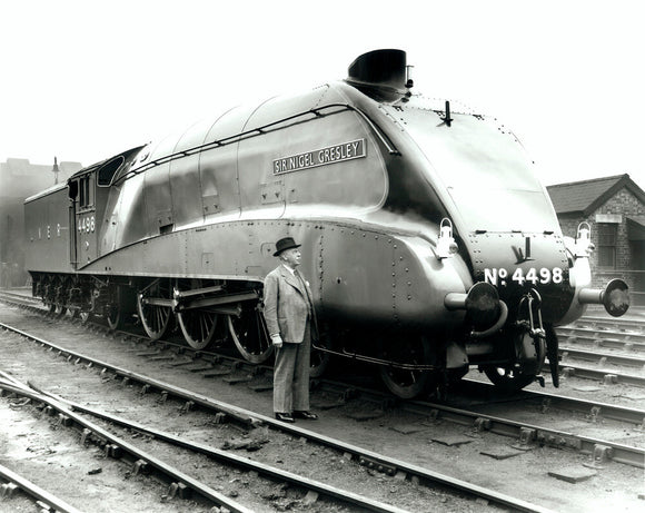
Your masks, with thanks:
<instances>
[{"instance_id":1,"label":"suit jacket worn by the man in the hat","mask_svg":"<svg viewBox=\"0 0 645 513\"><path fill-rule=\"evenodd\" d=\"M282 342L301 343L307 317L311 314L311 336L317 338L311 289L305 278L300 282L284 265L265 278L265 319L269 334L280 334Z\"/></svg>"}]
</instances>

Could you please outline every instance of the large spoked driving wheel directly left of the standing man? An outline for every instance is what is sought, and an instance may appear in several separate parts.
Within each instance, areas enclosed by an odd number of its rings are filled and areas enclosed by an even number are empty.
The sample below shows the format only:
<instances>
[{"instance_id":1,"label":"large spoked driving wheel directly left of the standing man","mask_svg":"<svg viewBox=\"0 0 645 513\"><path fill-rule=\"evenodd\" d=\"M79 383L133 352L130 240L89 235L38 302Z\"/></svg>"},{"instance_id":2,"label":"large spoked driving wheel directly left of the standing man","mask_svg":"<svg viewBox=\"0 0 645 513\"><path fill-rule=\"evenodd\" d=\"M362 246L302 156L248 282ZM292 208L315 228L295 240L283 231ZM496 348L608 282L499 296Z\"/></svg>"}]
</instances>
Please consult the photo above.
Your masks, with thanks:
<instances>
[{"instance_id":1,"label":"large spoked driving wheel directly left of the standing man","mask_svg":"<svg viewBox=\"0 0 645 513\"><path fill-rule=\"evenodd\" d=\"M257 305L242 307L239 316L228 316L228 331L232 342L247 362L261 364L271 355L274 346Z\"/></svg>"}]
</instances>

